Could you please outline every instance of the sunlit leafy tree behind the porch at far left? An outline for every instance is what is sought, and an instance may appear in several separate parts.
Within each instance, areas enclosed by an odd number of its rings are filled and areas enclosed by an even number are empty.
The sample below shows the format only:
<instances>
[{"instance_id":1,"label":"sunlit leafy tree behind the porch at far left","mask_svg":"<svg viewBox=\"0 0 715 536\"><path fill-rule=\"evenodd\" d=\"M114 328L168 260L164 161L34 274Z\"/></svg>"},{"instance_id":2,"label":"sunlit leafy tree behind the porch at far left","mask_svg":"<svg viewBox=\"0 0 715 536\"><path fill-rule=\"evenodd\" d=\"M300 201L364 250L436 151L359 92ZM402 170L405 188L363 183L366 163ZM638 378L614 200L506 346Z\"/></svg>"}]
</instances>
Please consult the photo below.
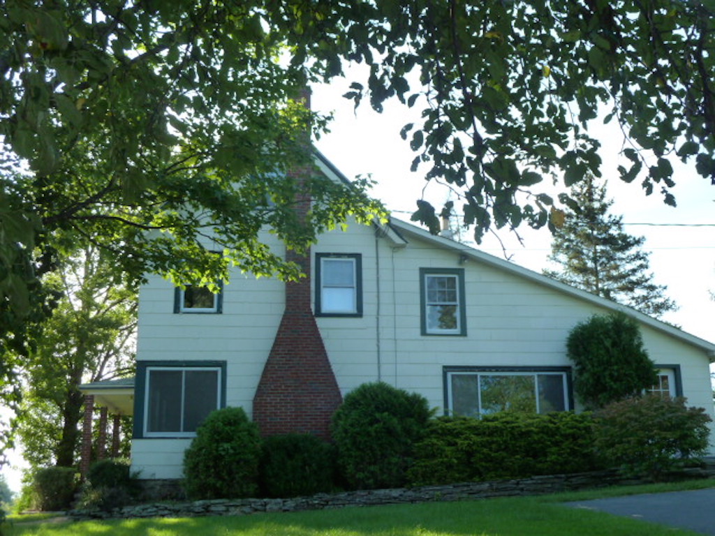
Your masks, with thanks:
<instances>
[{"instance_id":1,"label":"sunlit leafy tree behind the porch at far left","mask_svg":"<svg viewBox=\"0 0 715 536\"><path fill-rule=\"evenodd\" d=\"M79 385L126 375L134 367L136 289L122 284L109 257L95 247L63 259L46 279L62 298L21 374L18 431L32 467L73 467L84 399Z\"/></svg>"}]
</instances>

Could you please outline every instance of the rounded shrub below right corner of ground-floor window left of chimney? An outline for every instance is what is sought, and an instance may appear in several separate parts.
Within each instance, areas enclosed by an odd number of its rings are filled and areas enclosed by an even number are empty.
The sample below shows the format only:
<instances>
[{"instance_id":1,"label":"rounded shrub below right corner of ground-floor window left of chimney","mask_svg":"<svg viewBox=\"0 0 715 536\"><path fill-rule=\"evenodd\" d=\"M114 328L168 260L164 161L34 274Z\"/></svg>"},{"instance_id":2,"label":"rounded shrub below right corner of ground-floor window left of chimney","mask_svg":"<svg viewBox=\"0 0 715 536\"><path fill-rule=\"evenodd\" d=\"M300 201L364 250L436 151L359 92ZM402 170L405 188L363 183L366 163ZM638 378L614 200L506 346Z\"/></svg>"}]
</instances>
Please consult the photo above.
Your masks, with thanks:
<instances>
[{"instance_id":1,"label":"rounded shrub below right corner of ground-floor window left of chimney","mask_svg":"<svg viewBox=\"0 0 715 536\"><path fill-rule=\"evenodd\" d=\"M184 453L184 488L196 499L255 496L261 440L240 407L211 412Z\"/></svg>"}]
</instances>

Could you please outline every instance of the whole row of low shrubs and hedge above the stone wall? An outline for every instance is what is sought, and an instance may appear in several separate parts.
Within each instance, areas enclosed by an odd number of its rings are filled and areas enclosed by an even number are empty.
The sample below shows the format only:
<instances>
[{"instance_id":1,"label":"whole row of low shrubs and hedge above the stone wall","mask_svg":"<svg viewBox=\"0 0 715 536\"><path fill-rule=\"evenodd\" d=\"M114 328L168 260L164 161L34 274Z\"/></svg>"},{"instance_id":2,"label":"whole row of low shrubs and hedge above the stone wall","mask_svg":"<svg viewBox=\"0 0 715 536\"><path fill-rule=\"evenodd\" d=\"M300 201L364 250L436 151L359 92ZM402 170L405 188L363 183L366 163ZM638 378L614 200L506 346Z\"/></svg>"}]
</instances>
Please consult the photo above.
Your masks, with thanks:
<instances>
[{"instance_id":1,"label":"whole row of low shrubs and hedge above the stone wall","mask_svg":"<svg viewBox=\"0 0 715 536\"><path fill-rule=\"evenodd\" d=\"M708 422L684 399L652 396L593 414L434 419L424 397L365 384L335 413L333 445L301 435L260 440L243 410L212 413L187 450L186 490L192 498L247 497L256 490L292 497L610 467L657 480L706 449Z\"/></svg>"}]
</instances>

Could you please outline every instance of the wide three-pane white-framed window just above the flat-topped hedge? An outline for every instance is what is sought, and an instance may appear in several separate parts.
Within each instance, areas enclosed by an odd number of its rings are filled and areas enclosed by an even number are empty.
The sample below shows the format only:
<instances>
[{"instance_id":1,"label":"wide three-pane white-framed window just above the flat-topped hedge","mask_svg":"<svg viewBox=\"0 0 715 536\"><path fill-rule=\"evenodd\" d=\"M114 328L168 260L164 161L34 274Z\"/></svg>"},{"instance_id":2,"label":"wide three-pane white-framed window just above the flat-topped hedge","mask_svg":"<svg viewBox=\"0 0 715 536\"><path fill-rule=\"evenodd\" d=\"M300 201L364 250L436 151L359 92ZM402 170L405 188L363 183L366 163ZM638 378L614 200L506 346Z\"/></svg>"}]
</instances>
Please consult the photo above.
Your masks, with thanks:
<instances>
[{"instance_id":1,"label":"wide three-pane white-framed window just above the flat-topped hedge","mask_svg":"<svg viewBox=\"0 0 715 536\"><path fill-rule=\"evenodd\" d=\"M450 415L544 414L570 409L565 371L448 371L447 389Z\"/></svg>"}]
</instances>

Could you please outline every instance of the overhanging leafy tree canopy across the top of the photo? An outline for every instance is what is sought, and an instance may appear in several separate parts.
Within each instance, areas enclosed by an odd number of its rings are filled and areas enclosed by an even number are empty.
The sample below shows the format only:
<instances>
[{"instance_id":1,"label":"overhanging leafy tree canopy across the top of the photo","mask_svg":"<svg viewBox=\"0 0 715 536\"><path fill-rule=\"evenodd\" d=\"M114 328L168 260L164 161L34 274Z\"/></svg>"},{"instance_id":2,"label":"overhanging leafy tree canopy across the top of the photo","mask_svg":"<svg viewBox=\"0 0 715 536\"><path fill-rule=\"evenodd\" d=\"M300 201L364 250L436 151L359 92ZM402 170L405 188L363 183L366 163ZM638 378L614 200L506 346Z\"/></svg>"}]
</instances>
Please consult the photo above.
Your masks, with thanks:
<instances>
[{"instance_id":1,"label":"overhanging leafy tree canopy across the top of the photo","mask_svg":"<svg viewBox=\"0 0 715 536\"><path fill-rule=\"evenodd\" d=\"M370 68L345 94L356 106L421 109L400 131L413 169L461 192L478 241L551 226L547 184L601 172L588 128L603 114L623 129L621 178L674 204L675 159L715 177L713 15L698 0L4 1L0 391L53 307L39 276L67 244L107 249L134 279L210 283L230 264L289 277L260 229L302 247L371 217L364 184L317 177L305 225L291 209L300 134L325 127L296 90L346 61ZM426 202L413 218L438 230Z\"/></svg>"}]
</instances>

